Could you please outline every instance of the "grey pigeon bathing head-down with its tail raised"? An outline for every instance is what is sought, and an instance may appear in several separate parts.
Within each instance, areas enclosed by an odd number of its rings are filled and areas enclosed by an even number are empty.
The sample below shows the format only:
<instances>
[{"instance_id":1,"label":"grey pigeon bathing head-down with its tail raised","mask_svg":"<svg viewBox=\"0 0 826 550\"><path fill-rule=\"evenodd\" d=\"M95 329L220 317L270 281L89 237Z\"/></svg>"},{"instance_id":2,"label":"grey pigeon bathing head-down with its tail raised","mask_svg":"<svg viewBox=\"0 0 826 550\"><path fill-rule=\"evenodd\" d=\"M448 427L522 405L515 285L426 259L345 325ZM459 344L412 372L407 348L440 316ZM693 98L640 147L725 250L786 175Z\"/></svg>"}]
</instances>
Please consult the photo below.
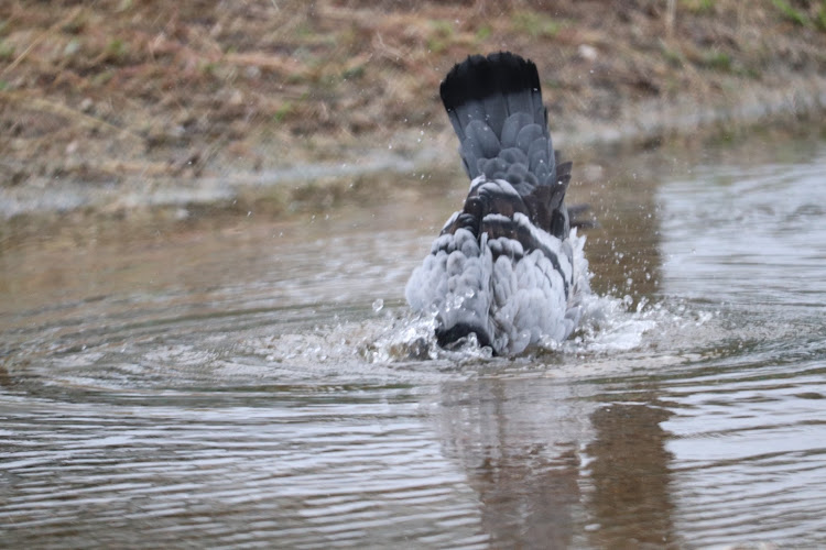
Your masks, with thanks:
<instances>
[{"instance_id":1,"label":"grey pigeon bathing head-down with its tail raised","mask_svg":"<svg viewBox=\"0 0 826 550\"><path fill-rule=\"evenodd\" d=\"M588 268L565 206L572 163L553 148L536 65L471 55L439 94L470 190L413 271L407 304L432 316L445 349L472 338L494 355L556 345L579 323Z\"/></svg>"}]
</instances>

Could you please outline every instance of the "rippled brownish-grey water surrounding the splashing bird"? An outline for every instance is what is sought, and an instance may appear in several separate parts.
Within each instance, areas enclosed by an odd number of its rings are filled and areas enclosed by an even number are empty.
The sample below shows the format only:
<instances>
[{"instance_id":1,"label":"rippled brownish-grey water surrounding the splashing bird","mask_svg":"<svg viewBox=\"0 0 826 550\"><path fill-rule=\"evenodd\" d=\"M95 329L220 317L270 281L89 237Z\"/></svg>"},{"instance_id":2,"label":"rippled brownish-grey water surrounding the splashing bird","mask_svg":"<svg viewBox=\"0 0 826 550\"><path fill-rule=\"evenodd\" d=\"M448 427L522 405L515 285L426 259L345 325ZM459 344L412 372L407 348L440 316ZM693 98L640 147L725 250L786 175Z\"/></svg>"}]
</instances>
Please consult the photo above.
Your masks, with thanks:
<instances>
[{"instance_id":1,"label":"rippled brownish-grey water surrounding the splashing bird","mask_svg":"<svg viewBox=\"0 0 826 550\"><path fill-rule=\"evenodd\" d=\"M826 546L826 145L587 170L585 326L513 360L410 359L458 182L3 243L2 546Z\"/></svg>"}]
</instances>

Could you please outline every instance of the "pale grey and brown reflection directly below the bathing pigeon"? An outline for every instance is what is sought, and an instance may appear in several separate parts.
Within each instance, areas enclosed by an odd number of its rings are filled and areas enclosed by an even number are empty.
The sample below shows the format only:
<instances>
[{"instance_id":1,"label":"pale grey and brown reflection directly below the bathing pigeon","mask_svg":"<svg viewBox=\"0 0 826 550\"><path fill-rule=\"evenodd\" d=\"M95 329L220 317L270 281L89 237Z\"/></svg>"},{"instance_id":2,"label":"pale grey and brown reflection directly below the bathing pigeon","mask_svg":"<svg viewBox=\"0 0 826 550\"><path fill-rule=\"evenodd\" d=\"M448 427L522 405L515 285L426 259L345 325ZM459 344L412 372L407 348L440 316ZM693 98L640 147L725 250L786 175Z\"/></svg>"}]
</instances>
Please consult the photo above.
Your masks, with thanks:
<instances>
[{"instance_id":1,"label":"pale grey and brown reflection directly below the bathing pigeon","mask_svg":"<svg viewBox=\"0 0 826 550\"><path fill-rule=\"evenodd\" d=\"M591 437L590 393L535 376L442 386L444 453L466 472L492 546L574 541L584 512L577 472L579 444Z\"/></svg>"}]
</instances>

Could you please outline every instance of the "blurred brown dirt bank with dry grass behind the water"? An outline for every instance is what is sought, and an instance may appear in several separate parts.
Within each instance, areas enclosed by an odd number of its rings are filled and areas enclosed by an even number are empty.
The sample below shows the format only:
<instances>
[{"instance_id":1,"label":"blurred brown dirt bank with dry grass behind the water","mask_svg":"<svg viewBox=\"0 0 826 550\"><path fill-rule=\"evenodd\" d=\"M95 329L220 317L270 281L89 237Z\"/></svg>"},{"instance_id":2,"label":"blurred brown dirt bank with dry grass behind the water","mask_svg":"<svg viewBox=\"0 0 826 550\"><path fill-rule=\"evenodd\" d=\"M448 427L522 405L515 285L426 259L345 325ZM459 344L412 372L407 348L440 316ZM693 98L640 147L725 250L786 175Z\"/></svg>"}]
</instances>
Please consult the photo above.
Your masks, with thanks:
<instances>
[{"instance_id":1,"label":"blurred brown dirt bank with dry grass behind the water","mask_svg":"<svg viewBox=\"0 0 826 550\"><path fill-rule=\"evenodd\" d=\"M438 84L500 50L536 62L563 141L651 144L720 109L822 109L826 0L4 0L0 194L456 161ZM63 209L107 205L130 208Z\"/></svg>"}]
</instances>

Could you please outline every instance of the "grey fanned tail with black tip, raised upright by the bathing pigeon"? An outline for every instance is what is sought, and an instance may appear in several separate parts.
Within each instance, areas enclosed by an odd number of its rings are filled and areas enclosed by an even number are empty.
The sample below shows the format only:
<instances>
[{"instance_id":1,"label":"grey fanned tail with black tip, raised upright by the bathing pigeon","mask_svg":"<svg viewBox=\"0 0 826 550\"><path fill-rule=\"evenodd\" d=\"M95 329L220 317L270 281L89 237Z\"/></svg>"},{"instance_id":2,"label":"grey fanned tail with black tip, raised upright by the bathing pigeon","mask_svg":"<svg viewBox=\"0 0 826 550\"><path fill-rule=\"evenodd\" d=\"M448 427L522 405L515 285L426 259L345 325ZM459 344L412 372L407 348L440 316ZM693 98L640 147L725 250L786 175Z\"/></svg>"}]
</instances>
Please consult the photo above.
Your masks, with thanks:
<instances>
[{"instance_id":1,"label":"grey fanned tail with black tip, raised upright by the bathing pigeon","mask_svg":"<svg viewBox=\"0 0 826 550\"><path fill-rule=\"evenodd\" d=\"M537 227L567 237L570 163L557 163L536 65L508 52L474 55L447 74L439 92L470 179L508 182Z\"/></svg>"}]
</instances>

